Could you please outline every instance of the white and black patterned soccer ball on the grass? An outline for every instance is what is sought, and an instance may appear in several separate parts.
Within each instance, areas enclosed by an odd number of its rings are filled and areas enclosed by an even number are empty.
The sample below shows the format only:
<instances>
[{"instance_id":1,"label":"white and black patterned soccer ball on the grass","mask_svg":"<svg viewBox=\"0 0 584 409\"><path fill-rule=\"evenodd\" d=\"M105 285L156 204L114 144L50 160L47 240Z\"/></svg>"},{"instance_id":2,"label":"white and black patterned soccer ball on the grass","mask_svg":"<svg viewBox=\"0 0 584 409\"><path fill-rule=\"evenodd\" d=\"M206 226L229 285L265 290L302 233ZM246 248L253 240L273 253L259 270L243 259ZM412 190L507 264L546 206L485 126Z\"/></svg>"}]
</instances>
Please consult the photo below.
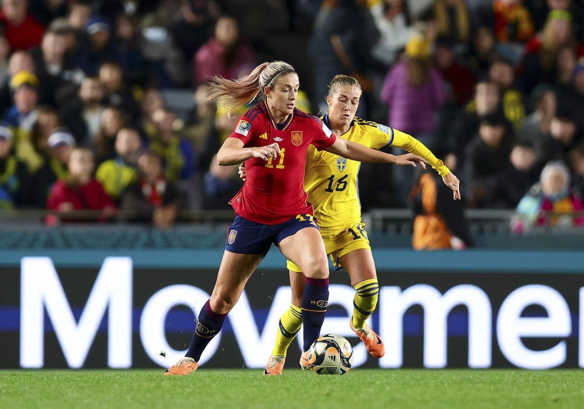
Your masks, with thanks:
<instances>
[{"instance_id":1,"label":"white and black patterned soccer ball on the grass","mask_svg":"<svg viewBox=\"0 0 584 409\"><path fill-rule=\"evenodd\" d=\"M353 348L345 337L322 335L312 342L308 361L319 375L343 375L353 364Z\"/></svg>"}]
</instances>

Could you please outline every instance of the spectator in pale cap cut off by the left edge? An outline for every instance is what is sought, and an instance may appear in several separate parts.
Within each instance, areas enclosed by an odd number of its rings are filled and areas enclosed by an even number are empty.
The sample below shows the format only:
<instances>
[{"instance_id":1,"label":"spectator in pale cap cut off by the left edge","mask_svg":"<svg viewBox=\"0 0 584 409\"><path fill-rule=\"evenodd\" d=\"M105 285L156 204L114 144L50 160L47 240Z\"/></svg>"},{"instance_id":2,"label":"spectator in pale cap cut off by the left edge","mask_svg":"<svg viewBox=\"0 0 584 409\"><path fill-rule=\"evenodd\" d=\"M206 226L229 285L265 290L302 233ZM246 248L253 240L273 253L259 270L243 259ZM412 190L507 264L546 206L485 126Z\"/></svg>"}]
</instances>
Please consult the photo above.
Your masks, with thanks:
<instances>
[{"instance_id":1,"label":"spectator in pale cap cut off by the left edge","mask_svg":"<svg viewBox=\"0 0 584 409\"><path fill-rule=\"evenodd\" d=\"M13 151L12 130L0 123L0 209L34 207L32 176Z\"/></svg>"}]
</instances>

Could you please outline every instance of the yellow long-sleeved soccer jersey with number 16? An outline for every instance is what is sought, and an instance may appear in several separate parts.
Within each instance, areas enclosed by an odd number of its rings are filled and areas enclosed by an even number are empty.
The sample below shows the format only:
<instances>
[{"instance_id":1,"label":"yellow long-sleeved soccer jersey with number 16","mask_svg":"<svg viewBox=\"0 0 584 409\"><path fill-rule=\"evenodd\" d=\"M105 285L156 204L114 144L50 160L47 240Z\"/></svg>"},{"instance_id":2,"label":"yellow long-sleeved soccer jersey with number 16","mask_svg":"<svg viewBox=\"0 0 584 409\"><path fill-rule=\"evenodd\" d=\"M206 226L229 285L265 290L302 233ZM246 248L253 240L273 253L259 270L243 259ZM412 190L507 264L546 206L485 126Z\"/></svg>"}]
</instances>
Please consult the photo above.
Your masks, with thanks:
<instances>
[{"instance_id":1,"label":"yellow long-sleeved soccer jersey with number 16","mask_svg":"<svg viewBox=\"0 0 584 409\"><path fill-rule=\"evenodd\" d=\"M322 118L329 126L328 117ZM330 126L329 126L330 127ZM370 148L384 146L402 148L425 158L440 176L450 170L420 141L383 124L355 117L352 126L338 137ZM343 230L361 220L361 204L357 189L357 175L361 162L343 158L326 151L308 148L304 174L304 189L314 206L314 216L322 229Z\"/></svg>"}]
</instances>

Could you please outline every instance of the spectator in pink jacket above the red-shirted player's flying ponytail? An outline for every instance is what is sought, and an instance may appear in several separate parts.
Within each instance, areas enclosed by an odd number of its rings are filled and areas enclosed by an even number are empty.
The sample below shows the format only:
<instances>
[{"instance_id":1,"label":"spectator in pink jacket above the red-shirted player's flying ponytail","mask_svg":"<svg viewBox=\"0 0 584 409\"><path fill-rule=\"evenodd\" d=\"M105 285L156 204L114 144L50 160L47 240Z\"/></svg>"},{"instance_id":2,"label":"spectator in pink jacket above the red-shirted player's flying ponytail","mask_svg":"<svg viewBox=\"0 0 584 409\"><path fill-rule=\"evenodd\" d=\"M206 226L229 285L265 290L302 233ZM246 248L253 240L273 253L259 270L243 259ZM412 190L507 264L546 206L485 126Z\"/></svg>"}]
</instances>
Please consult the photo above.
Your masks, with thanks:
<instances>
[{"instance_id":1,"label":"spectator in pink jacket above the red-shirted player's flying ponytail","mask_svg":"<svg viewBox=\"0 0 584 409\"><path fill-rule=\"evenodd\" d=\"M255 51L239 36L235 18L224 16L217 20L215 35L194 54L193 85L220 75L235 79L248 74L255 67Z\"/></svg>"}]
</instances>

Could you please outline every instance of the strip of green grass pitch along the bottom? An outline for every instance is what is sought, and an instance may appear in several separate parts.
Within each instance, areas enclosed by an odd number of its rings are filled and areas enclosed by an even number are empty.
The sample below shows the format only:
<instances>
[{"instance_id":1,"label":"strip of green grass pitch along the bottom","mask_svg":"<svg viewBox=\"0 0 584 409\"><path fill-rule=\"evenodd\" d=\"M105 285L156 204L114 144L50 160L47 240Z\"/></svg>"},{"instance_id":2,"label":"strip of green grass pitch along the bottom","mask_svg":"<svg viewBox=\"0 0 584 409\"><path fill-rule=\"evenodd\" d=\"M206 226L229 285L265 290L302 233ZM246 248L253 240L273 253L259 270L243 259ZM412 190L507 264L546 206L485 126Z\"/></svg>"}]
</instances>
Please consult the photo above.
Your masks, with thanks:
<instances>
[{"instance_id":1,"label":"strip of green grass pitch along the bottom","mask_svg":"<svg viewBox=\"0 0 584 409\"><path fill-rule=\"evenodd\" d=\"M0 408L584 408L583 370L1 370Z\"/></svg>"}]
</instances>

